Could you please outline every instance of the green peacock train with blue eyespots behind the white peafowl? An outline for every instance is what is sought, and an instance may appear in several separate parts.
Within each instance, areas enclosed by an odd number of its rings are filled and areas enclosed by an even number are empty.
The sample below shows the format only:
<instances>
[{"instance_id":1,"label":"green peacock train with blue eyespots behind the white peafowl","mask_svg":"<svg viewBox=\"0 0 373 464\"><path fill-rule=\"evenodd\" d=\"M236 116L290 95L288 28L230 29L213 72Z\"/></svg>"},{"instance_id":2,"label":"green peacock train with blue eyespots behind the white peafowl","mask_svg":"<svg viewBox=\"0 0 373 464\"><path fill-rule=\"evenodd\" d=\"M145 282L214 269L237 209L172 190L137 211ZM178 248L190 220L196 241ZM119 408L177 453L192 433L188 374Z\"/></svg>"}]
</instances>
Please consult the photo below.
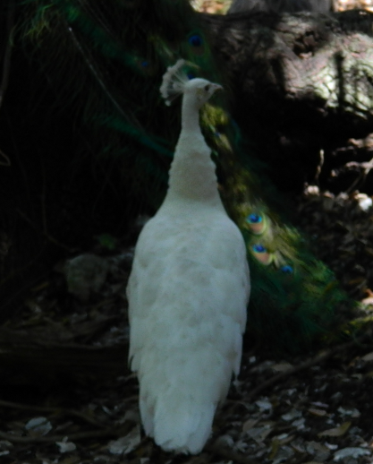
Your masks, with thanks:
<instances>
[{"instance_id":1,"label":"green peacock train with blue eyespots behind the white peafowl","mask_svg":"<svg viewBox=\"0 0 373 464\"><path fill-rule=\"evenodd\" d=\"M133 208L156 211L180 132L180 103L166 109L159 95L165 68L182 57L193 64L190 79L220 82L229 94L198 13L187 0L27 0L18 9L18 46L52 82L56 110L74 108L97 157L120 169L137 199ZM276 349L308 348L347 297L286 219L284 200L242 140L227 99L206 105L201 124L225 207L247 245L248 331Z\"/></svg>"}]
</instances>

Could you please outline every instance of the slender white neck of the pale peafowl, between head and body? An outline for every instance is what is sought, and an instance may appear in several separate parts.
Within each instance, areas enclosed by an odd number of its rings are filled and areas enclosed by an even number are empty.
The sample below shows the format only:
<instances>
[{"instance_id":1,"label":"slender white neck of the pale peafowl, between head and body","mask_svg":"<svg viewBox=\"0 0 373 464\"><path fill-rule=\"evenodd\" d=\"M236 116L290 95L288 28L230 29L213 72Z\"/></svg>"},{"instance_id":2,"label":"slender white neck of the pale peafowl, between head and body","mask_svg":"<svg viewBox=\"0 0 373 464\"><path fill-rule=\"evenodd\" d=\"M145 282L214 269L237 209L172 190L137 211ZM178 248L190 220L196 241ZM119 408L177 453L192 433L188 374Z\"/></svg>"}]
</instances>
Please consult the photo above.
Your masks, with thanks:
<instances>
[{"instance_id":1,"label":"slender white neck of the pale peafowl, between head and body","mask_svg":"<svg viewBox=\"0 0 373 464\"><path fill-rule=\"evenodd\" d=\"M199 108L189 95L182 99L182 132L170 169L165 202L183 200L223 208L217 191L216 166L211 150L200 131Z\"/></svg>"}]
</instances>

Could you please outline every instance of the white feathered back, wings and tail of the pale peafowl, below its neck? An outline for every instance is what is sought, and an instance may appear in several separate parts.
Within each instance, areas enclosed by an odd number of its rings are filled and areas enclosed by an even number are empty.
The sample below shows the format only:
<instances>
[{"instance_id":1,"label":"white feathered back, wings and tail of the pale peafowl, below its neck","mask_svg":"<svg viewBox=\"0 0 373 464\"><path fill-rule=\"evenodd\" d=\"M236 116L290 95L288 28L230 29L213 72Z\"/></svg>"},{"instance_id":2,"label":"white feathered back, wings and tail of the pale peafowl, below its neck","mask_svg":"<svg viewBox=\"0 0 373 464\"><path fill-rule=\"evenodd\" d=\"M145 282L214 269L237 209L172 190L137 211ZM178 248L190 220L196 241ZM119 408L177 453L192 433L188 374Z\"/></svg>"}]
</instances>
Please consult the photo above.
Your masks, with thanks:
<instances>
[{"instance_id":1,"label":"white feathered back, wings and tail of the pale peafowl, below its neck","mask_svg":"<svg viewBox=\"0 0 373 464\"><path fill-rule=\"evenodd\" d=\"M145 430L164 449L198 452L240 370L250 294L241 232L220 211L192 222L157 215L140 234L127 292Z\"/></svg>"}]
</instances>

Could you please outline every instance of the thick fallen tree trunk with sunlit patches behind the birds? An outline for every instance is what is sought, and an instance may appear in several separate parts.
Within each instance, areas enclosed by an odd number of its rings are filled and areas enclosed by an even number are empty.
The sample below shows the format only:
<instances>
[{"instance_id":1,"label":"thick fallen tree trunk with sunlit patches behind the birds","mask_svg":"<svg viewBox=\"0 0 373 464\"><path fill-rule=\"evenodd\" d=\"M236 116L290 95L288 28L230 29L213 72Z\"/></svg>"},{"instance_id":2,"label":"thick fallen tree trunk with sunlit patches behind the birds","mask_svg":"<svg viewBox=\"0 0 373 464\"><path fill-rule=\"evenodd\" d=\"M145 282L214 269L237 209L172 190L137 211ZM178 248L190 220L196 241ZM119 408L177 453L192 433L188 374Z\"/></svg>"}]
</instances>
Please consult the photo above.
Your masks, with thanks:
<instances>
[{"instance_id":1,"label":"thick fallen tree trunk with sunlit patches behind the birds","mask_svg":"<svg viewBox=\"0 0 373 464\"><path fill-rule=\"evenodd\" d=\"M244 136L257 142L276 184L289 190L321 180L330 187L334 157L367 161L351 138L373 123L373 14L238 13L202 16L232 90L232 112ZM364 145L364 143L362 143ZM361 143L360 143L361 148ZM321 151L322 150L322 151ZM360 155L360 158L359 158ZM340 185L345 187L346 185Z\"/></svg>"}]
</instances>

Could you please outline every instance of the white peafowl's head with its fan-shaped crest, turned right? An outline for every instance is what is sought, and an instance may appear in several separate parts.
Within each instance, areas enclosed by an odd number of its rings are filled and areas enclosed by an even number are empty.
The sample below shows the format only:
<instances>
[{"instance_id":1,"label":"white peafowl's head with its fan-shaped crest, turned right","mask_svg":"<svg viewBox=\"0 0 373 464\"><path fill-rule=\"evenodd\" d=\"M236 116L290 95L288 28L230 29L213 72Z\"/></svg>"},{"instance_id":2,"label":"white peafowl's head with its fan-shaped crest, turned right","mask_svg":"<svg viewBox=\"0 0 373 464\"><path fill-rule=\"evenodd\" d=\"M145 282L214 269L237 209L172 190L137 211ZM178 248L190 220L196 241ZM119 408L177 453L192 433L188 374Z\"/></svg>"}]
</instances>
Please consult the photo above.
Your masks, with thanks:
<instances>
[{"instance_id":1,"label":"white peafowl's head with its fan-shaped crest, turned right","mask_svg":"<svg viewBox=\"0 0 373 464\"><path fill-rule=\"evenodd\" d=\"M195 103L199 109L211 98L216 90L223 90L223 87L199 77L189 79L188 73L184 69L187 65L192 64L179 60L174 66L167 68L163 76L160 92L165 99L166 105L171 105L171 102L179 95L184 95L191 103Z\"/></svg>"}]
</instances>

